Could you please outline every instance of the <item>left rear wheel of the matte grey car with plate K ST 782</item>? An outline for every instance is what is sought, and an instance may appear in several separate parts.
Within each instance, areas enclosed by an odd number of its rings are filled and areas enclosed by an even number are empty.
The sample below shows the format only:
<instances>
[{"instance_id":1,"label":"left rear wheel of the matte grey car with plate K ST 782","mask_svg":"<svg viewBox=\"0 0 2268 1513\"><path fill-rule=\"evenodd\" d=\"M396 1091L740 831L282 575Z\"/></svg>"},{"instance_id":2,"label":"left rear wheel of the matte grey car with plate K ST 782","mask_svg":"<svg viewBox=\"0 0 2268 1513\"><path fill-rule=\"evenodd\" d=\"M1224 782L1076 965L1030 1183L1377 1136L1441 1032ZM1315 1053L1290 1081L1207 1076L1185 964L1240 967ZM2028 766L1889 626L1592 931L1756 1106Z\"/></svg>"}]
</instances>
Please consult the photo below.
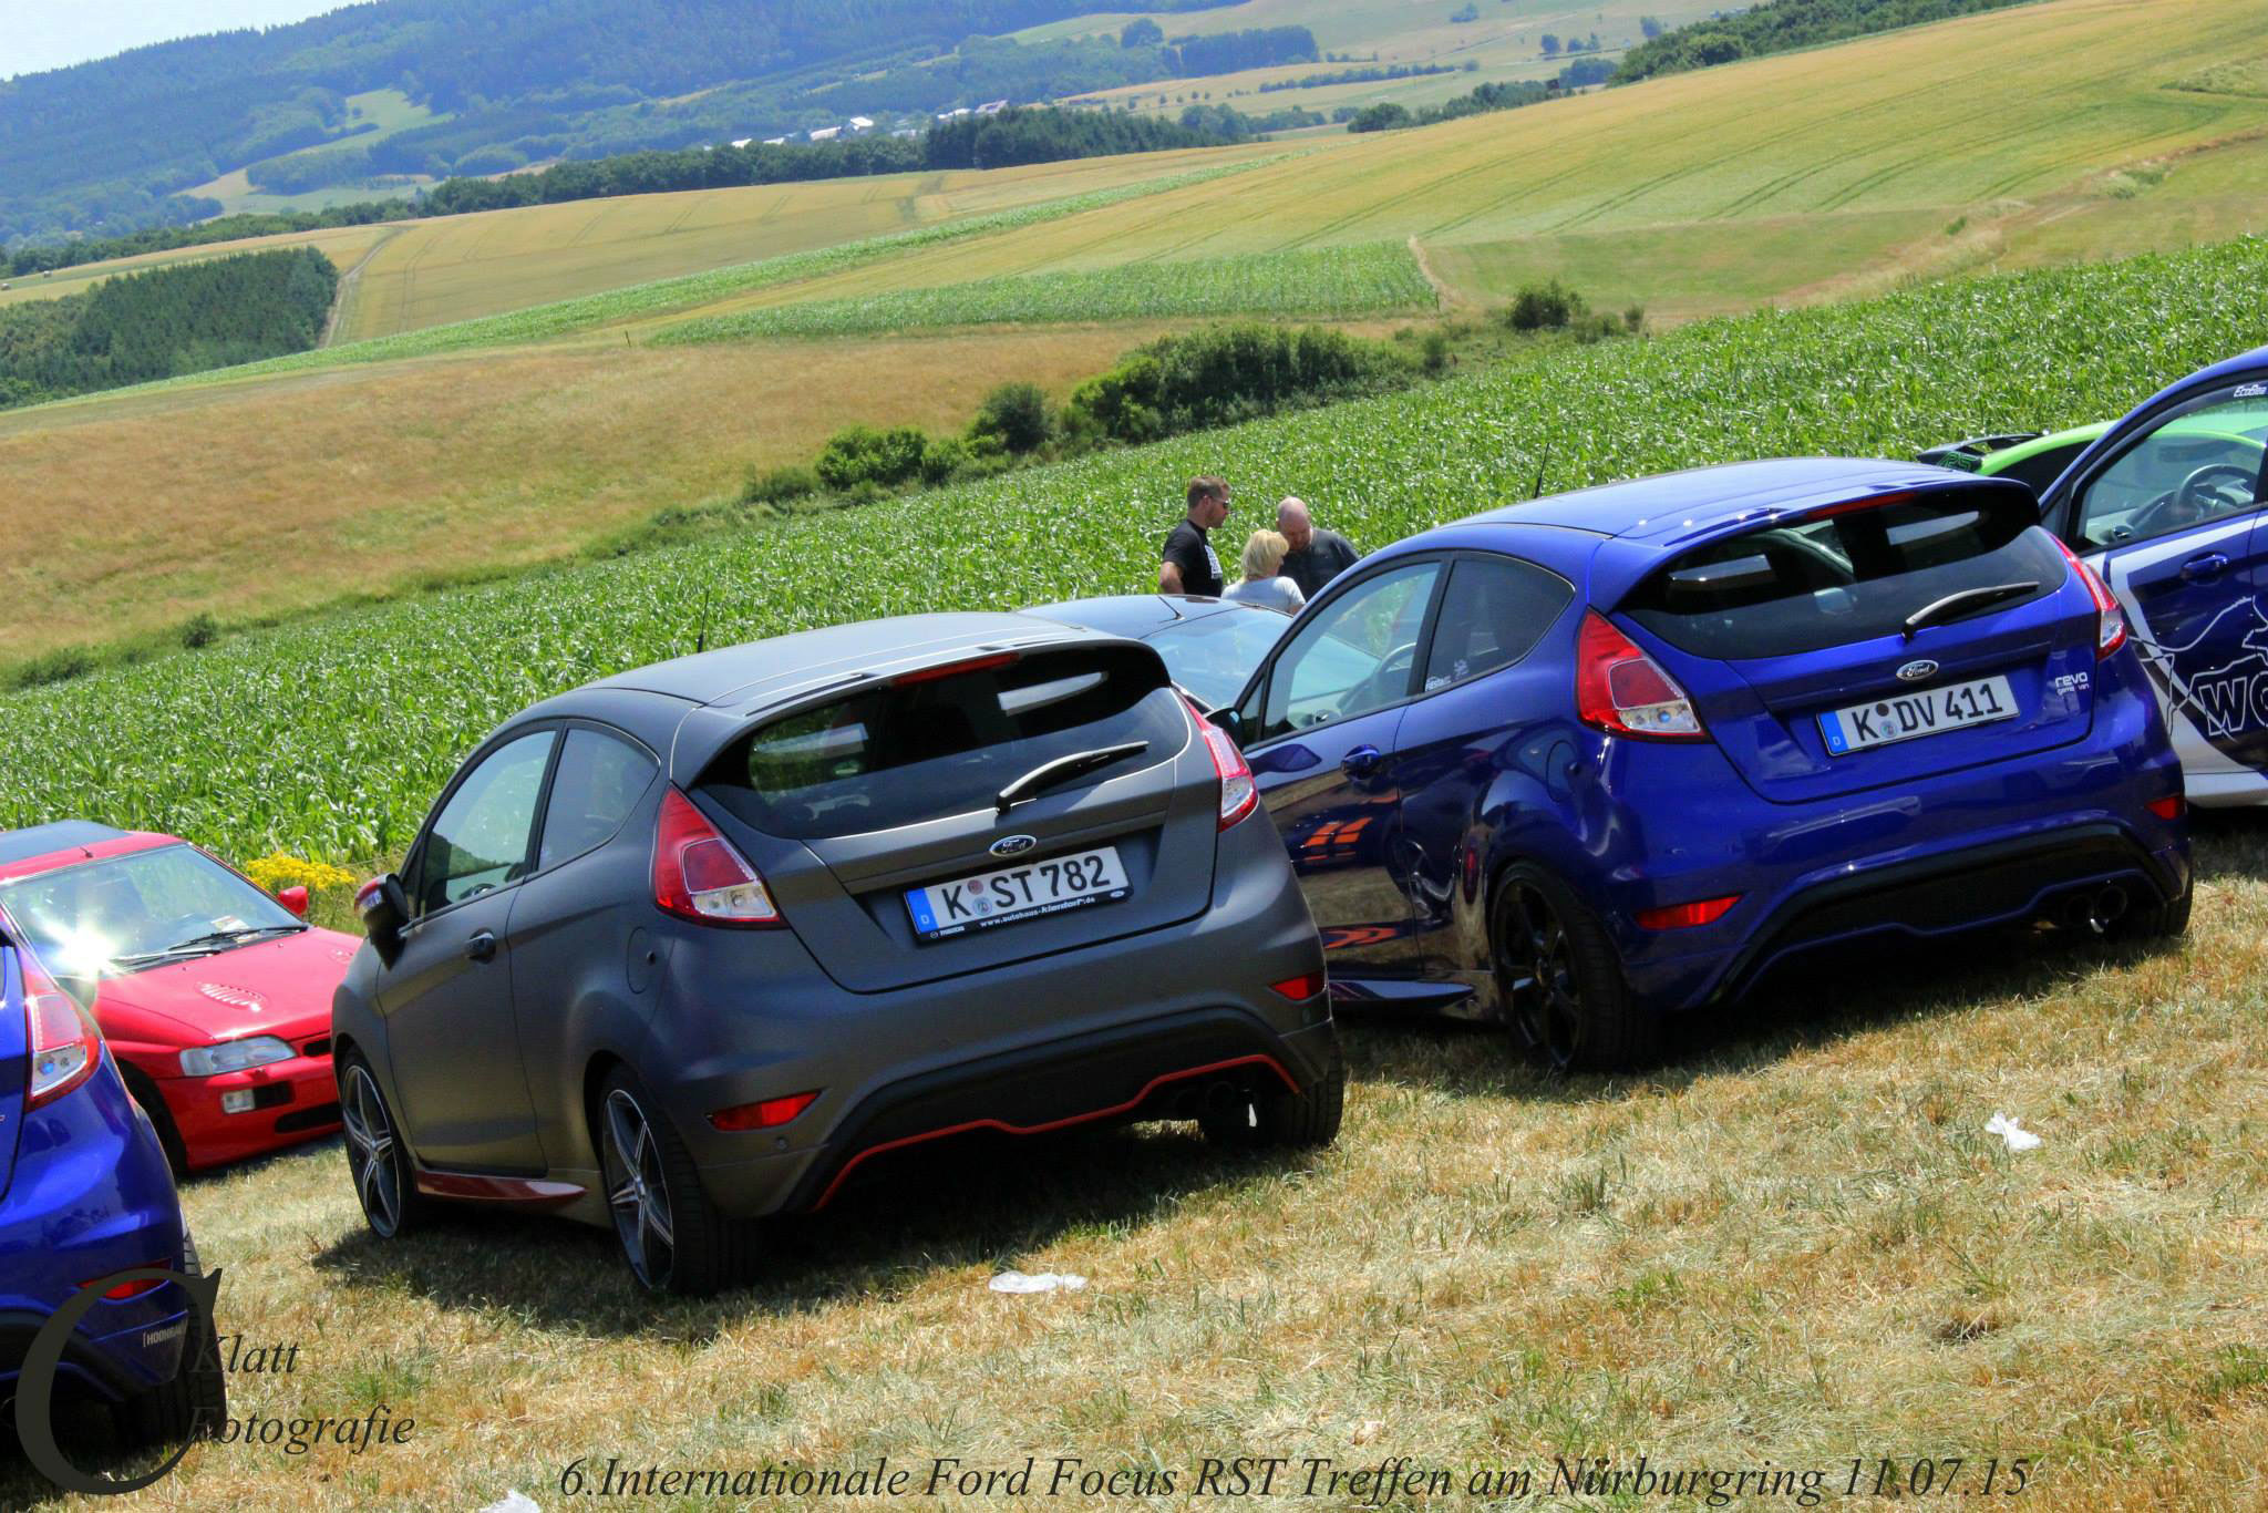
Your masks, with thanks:
<instances>
[{"instance_id":1,"label":"left rear wheel of the matte grey car with plate K ST 782","mask_svg":"<svg viewBox=\"0 0 2268 1513\"><path fill-rule=\"evenodd\" d=\"M708 1298L755 1275L755 1223L710 1202L694 1157L628 1066L599 1089L599 1175L615 1241L649 1293Z\"/></svg>"}]
</instances>

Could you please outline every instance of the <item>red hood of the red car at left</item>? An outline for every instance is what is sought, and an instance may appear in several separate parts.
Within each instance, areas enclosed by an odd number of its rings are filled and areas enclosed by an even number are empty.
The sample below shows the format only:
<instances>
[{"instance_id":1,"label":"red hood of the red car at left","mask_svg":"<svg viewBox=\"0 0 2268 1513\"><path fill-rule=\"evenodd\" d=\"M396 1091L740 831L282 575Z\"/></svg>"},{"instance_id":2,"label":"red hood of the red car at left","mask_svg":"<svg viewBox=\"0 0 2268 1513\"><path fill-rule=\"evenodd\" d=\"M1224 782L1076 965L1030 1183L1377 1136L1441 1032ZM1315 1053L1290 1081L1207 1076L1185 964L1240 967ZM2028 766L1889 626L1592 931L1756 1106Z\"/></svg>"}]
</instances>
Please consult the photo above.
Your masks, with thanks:
<instances>
[{"instance_id":1,"label":"red hood of the red car at left","mask_svg":"<svg viewBox=\"0 0 2268 1513\"><path fill-rule=\"evenodd\" d=\"M129 1041L206 1046L247 1034L299 1041L331 1028L331 994L358 946L352 935L311 928L193 962L104 978L95 1021L104 1034Z\"/></svg>"}]
</instances>

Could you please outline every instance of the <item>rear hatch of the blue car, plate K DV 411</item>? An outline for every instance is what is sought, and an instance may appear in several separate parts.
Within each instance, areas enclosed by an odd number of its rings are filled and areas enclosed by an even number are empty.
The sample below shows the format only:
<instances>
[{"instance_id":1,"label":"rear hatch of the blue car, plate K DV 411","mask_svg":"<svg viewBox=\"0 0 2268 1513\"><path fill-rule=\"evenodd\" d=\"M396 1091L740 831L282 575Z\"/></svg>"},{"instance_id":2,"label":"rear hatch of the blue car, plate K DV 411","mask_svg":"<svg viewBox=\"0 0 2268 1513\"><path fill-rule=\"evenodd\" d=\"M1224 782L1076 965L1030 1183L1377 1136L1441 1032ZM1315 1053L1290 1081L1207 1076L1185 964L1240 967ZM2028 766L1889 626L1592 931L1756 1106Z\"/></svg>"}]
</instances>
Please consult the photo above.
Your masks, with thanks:
<instances>
[{"instance_id":1,"label":"rear hatch of the blue car, plate K DV 411","mask_svg":"<svg viewBox=\"0 0 2268 1513\"><path fill-rule=\"evenodd\" d=\"M1765 798L1835 798L2064 746L2093 724L2096 603L2009 485L1771 517L1619 606Z\"/></svg>"}]
</instances>

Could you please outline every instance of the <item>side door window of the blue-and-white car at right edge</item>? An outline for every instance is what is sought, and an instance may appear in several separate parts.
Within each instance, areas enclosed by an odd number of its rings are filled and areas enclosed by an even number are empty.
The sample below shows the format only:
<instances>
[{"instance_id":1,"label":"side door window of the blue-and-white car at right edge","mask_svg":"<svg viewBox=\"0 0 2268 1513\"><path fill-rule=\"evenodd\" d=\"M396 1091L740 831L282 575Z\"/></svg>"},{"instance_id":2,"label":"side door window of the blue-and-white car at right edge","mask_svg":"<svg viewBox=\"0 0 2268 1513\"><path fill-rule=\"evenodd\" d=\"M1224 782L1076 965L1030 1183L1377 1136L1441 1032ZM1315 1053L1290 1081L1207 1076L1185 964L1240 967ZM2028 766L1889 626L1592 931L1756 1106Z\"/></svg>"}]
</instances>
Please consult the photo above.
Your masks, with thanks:
<instances>
[{"instance_id":1,"label":"side door window of the blue-and-white car at right edge","mask_svg":"<svg viewBox=\"0 0 2268 1513\"><path fill-rule=\"evenodd\" d=\"M2245 390L2182 406L2089 479L2077 538L2118 547L2259 508L2268 397Z\"/></svg>"}]
</instances>

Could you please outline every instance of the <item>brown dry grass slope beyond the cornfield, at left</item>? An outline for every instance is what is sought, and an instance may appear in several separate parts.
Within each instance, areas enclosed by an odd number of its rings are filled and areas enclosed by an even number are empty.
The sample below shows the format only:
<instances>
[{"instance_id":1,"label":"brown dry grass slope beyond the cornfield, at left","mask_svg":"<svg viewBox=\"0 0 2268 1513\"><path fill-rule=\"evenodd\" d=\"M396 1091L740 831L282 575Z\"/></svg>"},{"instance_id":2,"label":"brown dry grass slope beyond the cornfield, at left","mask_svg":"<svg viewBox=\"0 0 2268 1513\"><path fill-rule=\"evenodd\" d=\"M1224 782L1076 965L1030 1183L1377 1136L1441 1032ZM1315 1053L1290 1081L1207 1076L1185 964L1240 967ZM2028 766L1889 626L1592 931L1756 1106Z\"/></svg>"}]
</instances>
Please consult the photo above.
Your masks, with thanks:
<instances>
[{"instance_id":1,"label":"brown dry grass slope beyond the cornfield, at left","mask_svg":"<svg viewBox=\"0 0 2268 1513\"><path fill-rule=\"evenodd\" d=\"M1157 329L535 347L0 420L9 524L41 542L0 565L0 644L32 656L565 556L748 467L807 463L853 420L957 431L1009 379L1061 397Z\"/></svg>"}]
</instances>

